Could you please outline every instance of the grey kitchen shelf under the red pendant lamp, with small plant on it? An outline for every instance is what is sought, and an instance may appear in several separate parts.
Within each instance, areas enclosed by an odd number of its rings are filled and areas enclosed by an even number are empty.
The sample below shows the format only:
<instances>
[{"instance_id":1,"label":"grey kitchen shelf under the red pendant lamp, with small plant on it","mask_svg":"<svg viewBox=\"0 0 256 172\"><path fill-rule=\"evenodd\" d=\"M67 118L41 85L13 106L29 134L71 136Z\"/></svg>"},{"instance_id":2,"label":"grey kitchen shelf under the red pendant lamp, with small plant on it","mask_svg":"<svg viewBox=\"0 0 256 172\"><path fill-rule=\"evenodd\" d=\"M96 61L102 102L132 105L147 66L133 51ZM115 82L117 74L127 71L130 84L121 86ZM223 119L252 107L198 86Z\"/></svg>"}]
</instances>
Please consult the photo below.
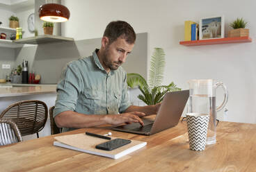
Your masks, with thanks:
<instances>
[{"instance_id":1,"label":"grey kitchen shelf under the red pendant lamp, with small plant on it","mask_svg":"<svg viewBox=\"0 0 256 172\"><path fill-rule=\"evenodd\" d=\"M17 44L47 44L53 42L69 42L74 41L72 37L61 37L57 35L39 35L36 37L26 37L20 40L14 40Z\"/></svg>"}]
</instances>

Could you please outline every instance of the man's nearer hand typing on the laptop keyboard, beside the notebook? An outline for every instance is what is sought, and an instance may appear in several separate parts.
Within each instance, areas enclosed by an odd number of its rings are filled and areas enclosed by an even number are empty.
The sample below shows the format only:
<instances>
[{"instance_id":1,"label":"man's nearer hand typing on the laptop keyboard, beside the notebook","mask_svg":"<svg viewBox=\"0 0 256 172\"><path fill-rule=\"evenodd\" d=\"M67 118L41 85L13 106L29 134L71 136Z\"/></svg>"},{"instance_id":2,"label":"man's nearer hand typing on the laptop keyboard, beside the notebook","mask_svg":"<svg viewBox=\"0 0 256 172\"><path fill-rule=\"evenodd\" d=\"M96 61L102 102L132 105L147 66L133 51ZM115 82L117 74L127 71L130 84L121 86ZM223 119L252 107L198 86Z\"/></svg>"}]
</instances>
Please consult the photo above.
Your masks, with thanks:
<instances>
[{"instance_id":1,"label":"man's nearer hand typing on the laptop keyboard, beside the notebook","mask_svg":"<svg viewBox=\"0 0 256 172\"><path fill-rule=\"evenodd\" d=\"M106 115L106 122L111 125L119 125L122 123L141 123L144 126L143 121L140 117L144 117L143 112L127 112L124 114L109 114Z\"/></svg>"}]
</instances>

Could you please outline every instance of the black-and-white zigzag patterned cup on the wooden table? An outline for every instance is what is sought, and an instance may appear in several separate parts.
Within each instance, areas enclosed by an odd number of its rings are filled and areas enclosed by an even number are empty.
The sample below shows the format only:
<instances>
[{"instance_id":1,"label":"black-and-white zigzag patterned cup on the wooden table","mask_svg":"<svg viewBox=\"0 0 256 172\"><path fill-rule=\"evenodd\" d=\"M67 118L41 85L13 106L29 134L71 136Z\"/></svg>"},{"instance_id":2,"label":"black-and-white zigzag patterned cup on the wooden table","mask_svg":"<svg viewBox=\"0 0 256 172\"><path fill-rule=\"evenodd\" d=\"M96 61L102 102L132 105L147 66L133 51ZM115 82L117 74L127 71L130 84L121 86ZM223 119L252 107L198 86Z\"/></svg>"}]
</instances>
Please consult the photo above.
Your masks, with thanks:
<instances>
[{"instance_id":1,"label":"black-and-white zigzag patterned cup on the wooden table","mask_svg":"<svg viewBox=\"0 0 256 172\"><path fill-rule=\"evenodd\" d=\"M186 123L189 132L189 148L205 150L209 114L188 113Z\"/></svg>"}]
</instances>

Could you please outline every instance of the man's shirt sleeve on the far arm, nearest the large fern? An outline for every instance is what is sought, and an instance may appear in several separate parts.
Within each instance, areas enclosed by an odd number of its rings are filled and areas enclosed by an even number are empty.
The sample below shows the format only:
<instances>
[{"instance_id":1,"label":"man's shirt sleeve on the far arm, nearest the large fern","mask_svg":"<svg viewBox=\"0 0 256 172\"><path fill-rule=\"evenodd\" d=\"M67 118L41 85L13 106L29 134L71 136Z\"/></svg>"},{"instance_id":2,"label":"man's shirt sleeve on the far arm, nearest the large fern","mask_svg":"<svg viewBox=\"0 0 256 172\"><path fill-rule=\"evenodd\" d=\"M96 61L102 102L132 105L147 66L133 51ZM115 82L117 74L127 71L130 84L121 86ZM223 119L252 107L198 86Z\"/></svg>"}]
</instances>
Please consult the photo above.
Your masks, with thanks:
<instances>
[{"instance_id":1,"label":"man's shirt sleeve on the far arm, nearest the large fern","mask_svg":"<svg viewBox=\"0 0 256 172\"><path fill-rule=\"evenodd\" d=\"M123 113L127 108L131 105L131 102L129 101L129 95L127 92L127 74L125 73L125 80L123 80L122 83L122 100L121 105L119 107L119 112Z\"/></svg>"}]
</instances>

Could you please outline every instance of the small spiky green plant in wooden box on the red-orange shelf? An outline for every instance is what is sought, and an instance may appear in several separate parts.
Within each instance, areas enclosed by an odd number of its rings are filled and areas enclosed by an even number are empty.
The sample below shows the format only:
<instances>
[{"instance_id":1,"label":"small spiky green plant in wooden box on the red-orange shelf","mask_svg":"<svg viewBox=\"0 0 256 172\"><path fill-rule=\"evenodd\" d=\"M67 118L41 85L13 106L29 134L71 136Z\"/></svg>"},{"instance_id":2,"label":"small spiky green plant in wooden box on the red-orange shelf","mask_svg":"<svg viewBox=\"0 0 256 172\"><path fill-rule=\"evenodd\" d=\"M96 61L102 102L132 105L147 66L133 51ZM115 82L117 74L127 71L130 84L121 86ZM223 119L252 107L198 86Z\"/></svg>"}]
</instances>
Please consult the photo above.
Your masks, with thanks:
<instances>
[{"instance_id":1,"label":"small spiky green plant in wooden box on the red-orange shelf","mask_svg":"<svg viewBox=\"0 0 256 172\"><path fill-rule=\"evenodd\" d=\"M232 28L231 31L228 31L227 37L246 37L249 36L249 29L246 28L247 22L243 20L243 18L237 18L230 24Z\"/></svg>"}]
</instances>

